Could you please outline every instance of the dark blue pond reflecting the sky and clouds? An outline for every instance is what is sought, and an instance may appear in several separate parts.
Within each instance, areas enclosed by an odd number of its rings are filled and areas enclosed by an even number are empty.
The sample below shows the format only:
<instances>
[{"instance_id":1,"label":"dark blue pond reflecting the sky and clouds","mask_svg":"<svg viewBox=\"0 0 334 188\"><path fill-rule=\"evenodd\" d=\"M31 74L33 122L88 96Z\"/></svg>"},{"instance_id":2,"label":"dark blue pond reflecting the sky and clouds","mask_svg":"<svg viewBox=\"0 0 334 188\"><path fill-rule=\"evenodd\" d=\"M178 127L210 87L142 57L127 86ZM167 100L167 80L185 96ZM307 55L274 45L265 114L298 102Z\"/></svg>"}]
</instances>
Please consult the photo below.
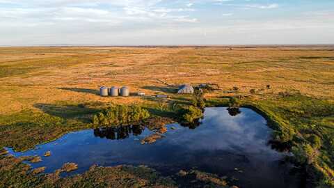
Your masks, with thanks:
<instances>
[{"instance_id":1,"label":"dark blue pond reflecting the sky and clouds","mask_svg":"<svg viewBox=\"0 0 334 188\"><path fill-rule=\"evenodd\" d=\"M228 111L225 107L205 109L205 118L197 127L167 125L164 138L141 144L153 132L139 125L82 130L37 146L34 150L14 152L42 157L33 168L46 166L46 172L60 169L66 162L78 164L73 173L90 166L118 164L147 165L162 175L174 175L181 169L198 169L237 180L240 187L299 187L291 173L293 166L283 161L286 152L269 146L272 130L267 121L251 109Z\"/></svg>"}]
</instances>

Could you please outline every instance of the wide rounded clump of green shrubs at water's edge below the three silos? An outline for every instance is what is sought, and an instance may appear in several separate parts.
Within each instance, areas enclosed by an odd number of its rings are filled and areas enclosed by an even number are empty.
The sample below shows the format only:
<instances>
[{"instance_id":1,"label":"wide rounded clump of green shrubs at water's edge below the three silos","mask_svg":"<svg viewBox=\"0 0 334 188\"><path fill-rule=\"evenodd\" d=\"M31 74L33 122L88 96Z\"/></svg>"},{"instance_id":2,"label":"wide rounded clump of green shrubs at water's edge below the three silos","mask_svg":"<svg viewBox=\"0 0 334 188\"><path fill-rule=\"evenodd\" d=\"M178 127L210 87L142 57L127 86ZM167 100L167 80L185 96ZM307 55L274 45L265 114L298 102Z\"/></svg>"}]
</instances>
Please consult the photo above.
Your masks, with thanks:
<instances>
[{"instance_id":1,"label":"wide rounded clump of green shrubs at water's edge below the three silos","mask_svg":"<svg viewBox=\"0 0 334 188\"><path fill-rule=\"evenodd\" d=\"M109 107L93 116L95 125L127 125L150 117L150 113L137 105Z\"/></svg>"}]
</instances>

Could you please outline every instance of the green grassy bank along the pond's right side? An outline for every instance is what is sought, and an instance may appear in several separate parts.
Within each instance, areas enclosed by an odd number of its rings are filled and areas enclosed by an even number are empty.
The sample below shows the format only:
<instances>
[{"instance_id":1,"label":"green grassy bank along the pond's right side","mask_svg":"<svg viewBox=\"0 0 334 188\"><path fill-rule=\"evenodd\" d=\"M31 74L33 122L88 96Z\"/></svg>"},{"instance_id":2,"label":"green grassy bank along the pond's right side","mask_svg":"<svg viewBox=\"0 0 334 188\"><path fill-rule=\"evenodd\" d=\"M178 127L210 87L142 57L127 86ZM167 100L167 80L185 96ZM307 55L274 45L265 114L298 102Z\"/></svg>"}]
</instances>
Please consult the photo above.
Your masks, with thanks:
<instances>
[{"instance_id":1,"label":"green grassy bank along the pond's right side","mask_svg":"<svg viewBox=\"0 0 334 188\"><path fill-rule=\"evenodd\" d=\"M334 103L304 95L292 95L274 100L250 102L269 117L276 130L274 139L290 142L294 155L301 159L321 186L333 186L334 168ZM270 124L271 123L271 124ZM316 139L312 139L316 138ZM315 170L314 170L315 167Z\"/></svg>"}]
</instances>

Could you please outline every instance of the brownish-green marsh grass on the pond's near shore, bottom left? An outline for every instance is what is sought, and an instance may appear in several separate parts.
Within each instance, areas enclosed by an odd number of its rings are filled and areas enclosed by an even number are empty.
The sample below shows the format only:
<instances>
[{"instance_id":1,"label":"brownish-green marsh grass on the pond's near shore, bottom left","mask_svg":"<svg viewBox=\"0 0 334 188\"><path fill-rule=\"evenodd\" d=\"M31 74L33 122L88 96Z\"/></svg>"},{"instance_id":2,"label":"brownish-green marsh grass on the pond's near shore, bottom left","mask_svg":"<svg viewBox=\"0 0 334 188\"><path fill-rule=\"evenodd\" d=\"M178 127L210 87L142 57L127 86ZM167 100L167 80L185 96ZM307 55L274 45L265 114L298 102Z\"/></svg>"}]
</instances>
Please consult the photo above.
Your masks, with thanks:
<instances>
[{"instance_id":1,"label":"brownish-green marsh grass on the pond's near shore, bottom left","mask_svg":"<svg viewBox=\"0 0 334 188\"><path fill-rule=\"evenodd\" d=\"M77 165L63 167L44 174L45 167L31 171L22 159L0 156L0 187L176 187L173 180L145 166L92 166L83 174L61 178L61 171L76 169Z\"/></svg>"}]
</instances>

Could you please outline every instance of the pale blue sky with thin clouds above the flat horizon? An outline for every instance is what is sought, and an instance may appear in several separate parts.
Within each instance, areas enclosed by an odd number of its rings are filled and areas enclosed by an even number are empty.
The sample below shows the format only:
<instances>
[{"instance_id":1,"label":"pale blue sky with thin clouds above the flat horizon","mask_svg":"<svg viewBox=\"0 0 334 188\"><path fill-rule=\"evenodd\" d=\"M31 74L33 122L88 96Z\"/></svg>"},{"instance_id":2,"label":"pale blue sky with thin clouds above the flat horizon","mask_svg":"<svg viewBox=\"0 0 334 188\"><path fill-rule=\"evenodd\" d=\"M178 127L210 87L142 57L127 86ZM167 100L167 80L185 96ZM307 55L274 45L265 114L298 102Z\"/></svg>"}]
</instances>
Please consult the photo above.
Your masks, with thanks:
<instances>
[{"instance_id":1,"label":"pale blue sky with thin clouds above the flat horizon","mask_svg":"<svg viewBox=\"0 0 334 188\"><path fill-rule=\"evenodd\" d=\"M334 44L334 0L0 0L0 45Z\"/></svg>"}]
</instances>

